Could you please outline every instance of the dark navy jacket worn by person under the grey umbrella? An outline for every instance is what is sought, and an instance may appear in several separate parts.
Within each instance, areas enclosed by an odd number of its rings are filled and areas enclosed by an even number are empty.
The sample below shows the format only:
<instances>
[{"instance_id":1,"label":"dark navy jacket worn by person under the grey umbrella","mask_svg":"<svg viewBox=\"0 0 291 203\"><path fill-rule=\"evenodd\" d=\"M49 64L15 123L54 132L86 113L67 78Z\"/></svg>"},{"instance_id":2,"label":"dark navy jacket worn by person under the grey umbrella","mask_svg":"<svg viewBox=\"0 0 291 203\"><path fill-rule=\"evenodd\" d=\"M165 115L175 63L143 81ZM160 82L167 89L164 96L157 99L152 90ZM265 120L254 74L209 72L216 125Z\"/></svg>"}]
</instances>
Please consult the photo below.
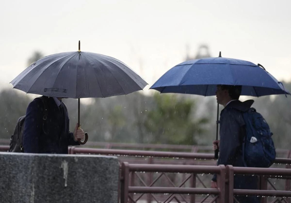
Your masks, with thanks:
<instances>
[{"instance_id":1,"label":"dark navy jacket worn by person under the grey umbrella","mask_svg":"<svg viewBox=\"0 0 291 203\"><path fill-rule=\"evenodd\" d=\"M26 109L23 132L23 146L26 153L67 154L69 145L78 145L73 133L69 132L68 110L61 108L54 98L42 96L47 100L47 119L43 121L44 104L41 98L34 99Z\"/></svg>"}]
</instances>

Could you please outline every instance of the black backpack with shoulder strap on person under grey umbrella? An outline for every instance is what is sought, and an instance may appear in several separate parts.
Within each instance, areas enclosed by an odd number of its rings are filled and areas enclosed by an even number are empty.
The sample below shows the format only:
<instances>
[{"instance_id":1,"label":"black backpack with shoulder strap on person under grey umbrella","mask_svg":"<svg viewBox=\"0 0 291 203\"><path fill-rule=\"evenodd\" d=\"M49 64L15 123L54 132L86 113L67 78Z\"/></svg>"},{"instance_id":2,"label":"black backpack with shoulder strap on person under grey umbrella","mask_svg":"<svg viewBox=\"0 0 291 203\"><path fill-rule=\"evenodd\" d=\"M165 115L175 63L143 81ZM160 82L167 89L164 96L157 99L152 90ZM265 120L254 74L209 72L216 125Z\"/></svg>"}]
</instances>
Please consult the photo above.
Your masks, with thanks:
<instances>
[{"instance_id":1,"label":"black backpack with shoulder strap on person under grey umbrella","mask_svg":"<svg viewBox=\"0 0 291 203\"><path fill-rule=\"evenodd\" d=\"M43 106L44 106L44 111L43 111L43 123L42 123L42 130L44 131L43 125L45 120L47 119L47 97L38 97L41 98ZM22 143L22 136L23 136L23 131L24 131L24 124L25 124L25 115L20 117L15 126L15 130L13 135L11 135L10 138L10 144L9 144L9 150L8 152L24 152L24 147ZM44 131L45 134L47 134Z\"/></svg>"}]
</instances>

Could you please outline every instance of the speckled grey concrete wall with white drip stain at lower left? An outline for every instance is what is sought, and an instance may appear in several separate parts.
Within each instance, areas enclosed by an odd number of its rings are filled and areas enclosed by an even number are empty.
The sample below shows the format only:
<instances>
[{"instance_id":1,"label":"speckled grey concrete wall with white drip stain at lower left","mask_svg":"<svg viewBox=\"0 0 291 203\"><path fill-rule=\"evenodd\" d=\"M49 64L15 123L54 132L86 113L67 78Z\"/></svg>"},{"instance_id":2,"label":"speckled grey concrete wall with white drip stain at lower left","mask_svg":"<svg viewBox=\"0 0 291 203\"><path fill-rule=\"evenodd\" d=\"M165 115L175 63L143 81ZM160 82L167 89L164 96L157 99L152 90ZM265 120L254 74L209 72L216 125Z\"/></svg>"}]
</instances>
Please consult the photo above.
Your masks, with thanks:
<instances>
[{"instance_id":1,"label":"speckled grey concrete wall with white drip stain at lower left","mask_svg":"<svg viewBox=\"0 0 291 203\"><path fill-rule=\"evenodd\" d=\"M118 202L116 157L0 152L0 202Z\"/></svg>"}]
</instances>

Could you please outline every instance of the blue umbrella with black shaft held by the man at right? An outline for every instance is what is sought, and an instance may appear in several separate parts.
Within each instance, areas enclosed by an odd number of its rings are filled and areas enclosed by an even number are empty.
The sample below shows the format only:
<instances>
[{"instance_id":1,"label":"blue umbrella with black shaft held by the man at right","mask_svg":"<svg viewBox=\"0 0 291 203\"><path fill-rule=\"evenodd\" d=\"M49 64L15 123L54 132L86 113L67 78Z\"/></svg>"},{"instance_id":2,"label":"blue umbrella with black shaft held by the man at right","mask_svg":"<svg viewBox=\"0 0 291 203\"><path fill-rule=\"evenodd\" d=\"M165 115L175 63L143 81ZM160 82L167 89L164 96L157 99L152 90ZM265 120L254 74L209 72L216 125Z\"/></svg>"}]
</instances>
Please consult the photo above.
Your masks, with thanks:
<instances>
[{"instance_id":1,"label":"blue umbrella with black shaft held by the man at right","mask_svg":"<svg viewBox=\"0 0 291 203\"><path fill-rule=\"evenodd\" d=\"M194 59L174 66L162 75L150 89L158 90L161 93L211 96L215 95L219 84L241 85L241 95L256 97L290 95L282 82L276 80L262 65L239 59L223 58L221 52L219 57ZM218 139L218 112L219 104L217 104L216 139Z\"/></svg>"}]
</instances>

